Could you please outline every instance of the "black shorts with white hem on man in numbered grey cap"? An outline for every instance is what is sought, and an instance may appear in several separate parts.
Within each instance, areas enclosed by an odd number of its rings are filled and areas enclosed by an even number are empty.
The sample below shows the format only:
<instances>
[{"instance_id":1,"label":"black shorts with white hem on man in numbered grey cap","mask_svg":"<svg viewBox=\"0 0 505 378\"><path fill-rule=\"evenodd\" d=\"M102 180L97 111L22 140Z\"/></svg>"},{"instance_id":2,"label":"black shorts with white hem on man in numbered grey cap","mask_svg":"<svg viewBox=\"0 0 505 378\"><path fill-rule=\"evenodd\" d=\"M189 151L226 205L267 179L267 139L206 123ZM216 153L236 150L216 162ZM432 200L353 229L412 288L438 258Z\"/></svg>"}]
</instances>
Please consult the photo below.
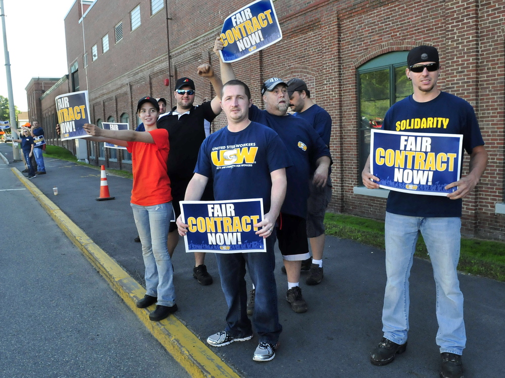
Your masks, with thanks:
<instances>
[{"instance_id":1,"label":"black shorts with white hem on man in numbered grey cap","mask_svg":"<svg viewBox=\"0 0 505 378\"><path fill-rule=\"evenodd\" d=\"M282 258L288 261L309 259L311 255L306 220L296 215L281 213L277 223L277 240Z\"/></svg>"}]
</instances>

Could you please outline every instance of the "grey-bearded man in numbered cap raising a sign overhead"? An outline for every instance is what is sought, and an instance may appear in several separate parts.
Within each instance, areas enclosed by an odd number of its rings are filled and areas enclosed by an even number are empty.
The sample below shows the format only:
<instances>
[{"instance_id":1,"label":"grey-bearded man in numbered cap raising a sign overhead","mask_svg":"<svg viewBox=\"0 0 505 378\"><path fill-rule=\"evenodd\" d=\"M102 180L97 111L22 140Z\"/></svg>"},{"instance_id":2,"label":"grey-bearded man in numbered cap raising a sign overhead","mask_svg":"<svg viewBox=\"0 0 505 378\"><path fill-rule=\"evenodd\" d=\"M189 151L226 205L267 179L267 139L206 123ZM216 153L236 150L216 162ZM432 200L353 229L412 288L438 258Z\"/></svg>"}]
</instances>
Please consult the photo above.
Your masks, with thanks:
<instances>
[{"instance_id":1,"label":"grey-bearded man in numbered cap raising a sign overhead","mask_svg":"<svg viewBox=\"0 0 505 378\"><path fill-rule=\"evenodd\" d=\"M218 37L214 42L214 52L220 61L223 80L228 82L235 79L235 73L231 64L221 60L221 49L223 43ZM306 224L309 180L313 177L315 185L326 185L331 164L330 150L307 121L287 114L289 96L287 84L282 79L274 77L266 80L261 94L265 110L251 105L249 119L277 132L293 161L293 165L286 169L287 191L279 216L277 239L287 274L286 300L294 312L305 312L308 306L301 295L299 279L301 262L310 258ZM254 294L251 291L253 299Z\"/></svg>"}]
</instances>

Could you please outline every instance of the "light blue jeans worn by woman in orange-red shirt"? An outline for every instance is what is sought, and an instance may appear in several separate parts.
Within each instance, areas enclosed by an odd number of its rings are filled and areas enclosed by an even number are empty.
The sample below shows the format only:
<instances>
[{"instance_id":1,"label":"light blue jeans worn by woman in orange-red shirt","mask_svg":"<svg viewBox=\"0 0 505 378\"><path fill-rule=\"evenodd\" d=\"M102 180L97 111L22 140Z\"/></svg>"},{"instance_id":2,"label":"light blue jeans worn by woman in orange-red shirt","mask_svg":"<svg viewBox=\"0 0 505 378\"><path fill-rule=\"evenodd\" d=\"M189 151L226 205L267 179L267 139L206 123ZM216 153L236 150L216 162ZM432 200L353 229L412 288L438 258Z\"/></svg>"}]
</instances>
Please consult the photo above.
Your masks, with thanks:
<instances>
[{"instance_id":1,"label":"light blue jeans worn by woman in orange-red shirt","mask_svg":"<svg viewBox=\"0 0 505 378\"><path fill-rule=\"evenodd\" d=\"M145 293L157 297L156 304L173 306L175 304L174 271L167 248L172 202L154 206L130 205L142 243Z\"/></svg>"}]
</instances>

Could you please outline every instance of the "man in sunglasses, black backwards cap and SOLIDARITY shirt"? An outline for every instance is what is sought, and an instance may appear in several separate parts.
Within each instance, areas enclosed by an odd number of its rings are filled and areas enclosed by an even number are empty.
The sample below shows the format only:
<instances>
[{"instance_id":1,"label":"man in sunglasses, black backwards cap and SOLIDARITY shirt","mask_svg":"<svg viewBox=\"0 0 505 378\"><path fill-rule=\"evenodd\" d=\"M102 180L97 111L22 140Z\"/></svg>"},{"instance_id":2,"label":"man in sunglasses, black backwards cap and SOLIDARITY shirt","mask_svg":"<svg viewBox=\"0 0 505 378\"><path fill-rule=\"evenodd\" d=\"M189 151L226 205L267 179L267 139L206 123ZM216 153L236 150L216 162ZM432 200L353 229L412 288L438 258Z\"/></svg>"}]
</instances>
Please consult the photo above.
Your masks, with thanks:
<instances>
[{"instance_id":1,"label":"man in sunglasses, black backwards cap and SOLIDARITY shirt","mask_svg":"<svg viewBox=\"0 0 505 378\"><path fill-rule=\"evenodd\" d=\"M442 358L440 376L461 378L461 355L466 334L463 294L456 268L460 256L462 199L472 192L486 169L487 152L473 107L465 100L438 89L440 67L437 49L432 46L413 48L407 56L407 66L406 74L412 81L414 94L389 108L383 129L399 131L396 125L407 119L444 118L446 124L427 122L427 128L401 131L463 135L463 147L470 154L470 167L467 176L445 187L458 187L447 197L389 192L385 222L387 283L382 309L384 335L372 350L370 360L374 365L385 365L407 348L409 276L421 232L430 254L436 285L436 342ZM379 178L370 173L370 157L362 178L366 187L379 187L376 182Z\"/></svg>"}]
</instances>

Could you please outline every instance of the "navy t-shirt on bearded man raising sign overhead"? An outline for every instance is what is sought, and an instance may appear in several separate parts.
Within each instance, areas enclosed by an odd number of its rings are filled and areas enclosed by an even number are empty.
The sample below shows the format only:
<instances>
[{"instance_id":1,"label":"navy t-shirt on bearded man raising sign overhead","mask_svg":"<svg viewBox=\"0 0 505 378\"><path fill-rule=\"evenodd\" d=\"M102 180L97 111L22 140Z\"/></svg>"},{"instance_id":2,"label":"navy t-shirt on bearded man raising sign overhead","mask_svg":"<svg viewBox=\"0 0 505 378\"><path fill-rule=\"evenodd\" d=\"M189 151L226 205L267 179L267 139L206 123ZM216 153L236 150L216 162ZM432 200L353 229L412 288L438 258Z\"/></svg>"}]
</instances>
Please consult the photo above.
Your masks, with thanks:
<instances>
[{"instance_id":1,"label":"navy t-shirt on bearded man raising sign overhead","mask_svg":"<svg viewBox=\"0 0 505 378\"><path fill-rule=\"evenodd\" d=\"M300 117L274 115L252 105L249 119L267 125L284 142L293 165L286 169L287 191L281 212L306 218L310 177L317 159L331 156L330 150L314 128Z\"/></svg>"}]
</instances>

